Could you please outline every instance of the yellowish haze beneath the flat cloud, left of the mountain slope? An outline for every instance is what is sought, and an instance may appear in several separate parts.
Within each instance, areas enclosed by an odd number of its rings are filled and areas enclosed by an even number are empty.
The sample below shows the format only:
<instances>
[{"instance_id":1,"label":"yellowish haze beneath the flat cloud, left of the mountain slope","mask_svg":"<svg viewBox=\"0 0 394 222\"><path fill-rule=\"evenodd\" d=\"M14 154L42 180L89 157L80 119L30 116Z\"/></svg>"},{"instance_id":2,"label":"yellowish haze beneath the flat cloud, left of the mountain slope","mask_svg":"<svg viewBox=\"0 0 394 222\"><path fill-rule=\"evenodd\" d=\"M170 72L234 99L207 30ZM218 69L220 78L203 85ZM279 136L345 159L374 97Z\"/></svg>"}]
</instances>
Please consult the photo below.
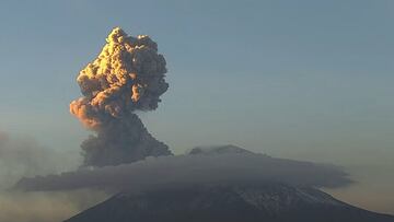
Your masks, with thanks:
<instances>
[{"instance_id":1,"label":"yellowish haze beneath the flat cloud, left of the mountain slope","mask_svg":"<svg viewBox=\"0 0 394 222\"><path fill-rule=\"evenodd\" d=\"M0 191L0 221L63 221L108 198L97 190L54 192Z\"/></svg>"}]
</instances>

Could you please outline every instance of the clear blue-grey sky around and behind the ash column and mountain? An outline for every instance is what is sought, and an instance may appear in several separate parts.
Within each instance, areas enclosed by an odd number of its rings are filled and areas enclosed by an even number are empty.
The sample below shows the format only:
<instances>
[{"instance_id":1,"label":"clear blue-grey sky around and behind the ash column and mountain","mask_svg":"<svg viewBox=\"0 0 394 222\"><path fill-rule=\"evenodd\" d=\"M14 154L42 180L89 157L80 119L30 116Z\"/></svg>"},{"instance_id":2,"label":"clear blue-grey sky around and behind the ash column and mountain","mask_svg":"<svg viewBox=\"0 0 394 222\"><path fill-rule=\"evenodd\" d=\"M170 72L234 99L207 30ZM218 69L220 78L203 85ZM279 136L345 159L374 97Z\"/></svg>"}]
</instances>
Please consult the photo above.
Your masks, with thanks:
<instances>
[{"instance_id":1,"label":"clear blue-grey sky around and behind the ash column and mountain","mask_svg":"<svg viewBox=\"0 0 394 222\"><path fill-rule=\"evenodd\" d=\"M232 143L343 165L359 183L333 194L394 213L393 10L390 0L2 1L0 129L79 153L90 132L69 114L76 78L121 26L150 35L167 61L169 91L139 115L175 153Z\"/></svg>"}]
</instances>

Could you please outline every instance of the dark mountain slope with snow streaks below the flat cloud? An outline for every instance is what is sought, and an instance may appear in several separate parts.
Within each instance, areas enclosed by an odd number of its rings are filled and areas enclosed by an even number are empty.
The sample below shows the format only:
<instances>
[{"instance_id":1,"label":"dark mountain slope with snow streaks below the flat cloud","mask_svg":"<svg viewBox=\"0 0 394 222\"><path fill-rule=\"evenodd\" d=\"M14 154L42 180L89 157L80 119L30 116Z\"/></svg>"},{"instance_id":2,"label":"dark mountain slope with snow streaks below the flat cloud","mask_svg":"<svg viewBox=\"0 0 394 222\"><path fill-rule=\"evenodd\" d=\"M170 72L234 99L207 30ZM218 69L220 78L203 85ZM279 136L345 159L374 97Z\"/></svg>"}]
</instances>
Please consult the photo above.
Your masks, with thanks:
<instances>
[{"instance_id":1,"label":"dark mountain slope with snow streaks below the flat cloud","mask_svg":"<svg viewBox=\"0 0 394 222\"><path fill-rule=\"evenodd\" d=\"M118 194L66 222L394 222L314 188L265 184Z\"/></svg>"}]
</instances>

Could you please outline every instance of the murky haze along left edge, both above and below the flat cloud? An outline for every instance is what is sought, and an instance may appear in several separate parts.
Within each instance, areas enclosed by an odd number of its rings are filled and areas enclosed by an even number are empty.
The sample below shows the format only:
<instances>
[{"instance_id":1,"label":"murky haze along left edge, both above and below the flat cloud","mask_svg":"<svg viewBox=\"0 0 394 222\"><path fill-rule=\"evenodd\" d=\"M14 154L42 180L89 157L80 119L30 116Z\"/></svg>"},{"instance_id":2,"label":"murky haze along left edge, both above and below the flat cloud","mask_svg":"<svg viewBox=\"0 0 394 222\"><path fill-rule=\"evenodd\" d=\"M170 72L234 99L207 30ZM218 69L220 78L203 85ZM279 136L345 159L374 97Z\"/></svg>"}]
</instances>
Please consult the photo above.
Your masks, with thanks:
<instances>
[{"instance_id":1,"label":"murky haze along left edge, both above and below the flat cloud","mask_svg":"<svg viewBox=\"0 0 394 222\"><path fill-rule=\"evenodd\" d=\"M74 171L80 164L78 152L57 151L28 137L0 131L0 221L62 221L107 198L100 190L20 192L11 190L25 176Z\"/></svg>"}]
</instances>

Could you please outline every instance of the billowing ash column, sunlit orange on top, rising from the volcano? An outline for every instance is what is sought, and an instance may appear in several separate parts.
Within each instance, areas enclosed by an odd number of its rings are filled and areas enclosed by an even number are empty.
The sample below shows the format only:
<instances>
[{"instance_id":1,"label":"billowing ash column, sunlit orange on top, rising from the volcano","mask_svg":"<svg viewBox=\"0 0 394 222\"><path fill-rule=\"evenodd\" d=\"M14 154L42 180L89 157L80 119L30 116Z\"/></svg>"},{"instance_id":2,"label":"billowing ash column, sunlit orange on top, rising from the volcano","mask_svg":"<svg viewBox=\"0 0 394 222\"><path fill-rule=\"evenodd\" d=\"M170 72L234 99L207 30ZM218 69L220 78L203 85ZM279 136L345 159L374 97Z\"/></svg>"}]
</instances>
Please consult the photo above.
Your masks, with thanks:
<instances>
[{"instance_id":1,"label":"billowing ash column, sunlit orange on top, rising from the volcano","mask_svg":"<svg viewBox=\"0 0 394 222\"><path fill-rule=\"evenodd\" d=\"M154 139L135 114L158 107L169 87L165 72L165 59L149 36L128 36L120 27L111 32L99 57L77 78L83 97L70 104L71 114L96 132L81 144L84 165L171 155L167 145Z\"/></svg>"}]
</instances>

